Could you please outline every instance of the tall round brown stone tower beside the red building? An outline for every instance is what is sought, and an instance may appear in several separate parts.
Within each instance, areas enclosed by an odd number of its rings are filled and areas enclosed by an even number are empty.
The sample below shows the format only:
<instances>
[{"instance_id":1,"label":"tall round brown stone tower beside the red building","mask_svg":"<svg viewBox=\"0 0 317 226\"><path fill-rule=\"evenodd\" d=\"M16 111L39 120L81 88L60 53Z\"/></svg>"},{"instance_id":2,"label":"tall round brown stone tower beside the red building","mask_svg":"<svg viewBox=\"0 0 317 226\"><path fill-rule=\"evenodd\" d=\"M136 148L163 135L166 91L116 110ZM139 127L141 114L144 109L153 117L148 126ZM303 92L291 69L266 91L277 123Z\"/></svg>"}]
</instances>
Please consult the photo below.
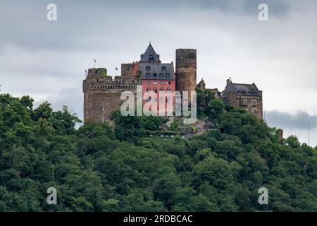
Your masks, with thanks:
<instances>
[{"instance_id":1,"label":"tall round brown stone tower beside the red building","mask_svg":"<svg viewBox=\"0 0 317 226\"><path fill-rule=\"evenodd\" d=\"M196 90L196 85L197 50L176 49L176 90L190 92Z\"/></svg>"}]
</instances>

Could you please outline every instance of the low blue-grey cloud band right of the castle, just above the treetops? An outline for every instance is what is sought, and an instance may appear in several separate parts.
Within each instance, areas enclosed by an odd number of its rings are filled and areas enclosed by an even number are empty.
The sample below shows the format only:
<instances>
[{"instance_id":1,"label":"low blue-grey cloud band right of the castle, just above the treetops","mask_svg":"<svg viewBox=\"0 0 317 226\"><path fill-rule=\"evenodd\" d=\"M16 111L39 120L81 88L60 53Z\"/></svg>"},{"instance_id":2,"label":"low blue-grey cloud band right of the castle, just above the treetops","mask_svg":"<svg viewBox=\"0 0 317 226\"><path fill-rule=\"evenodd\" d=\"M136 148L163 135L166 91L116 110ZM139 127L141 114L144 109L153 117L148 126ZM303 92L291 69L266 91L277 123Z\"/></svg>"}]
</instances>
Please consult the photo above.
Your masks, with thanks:
<instances>
[{"instance_id":1,"label":"low blue-grey cloud band right of the castle, just above the treetops","mask_svg":"<svg viewBox=\"0 0 317 226\"><path fill-rule=\"evenodd\" d=\"M303 111L295 114L278 111L266 112L266 121L270 126L279 128L307 129L309 124L311 124L311 129L317 128L317 115L310 115Z\"/></svg>"}]
</instances>

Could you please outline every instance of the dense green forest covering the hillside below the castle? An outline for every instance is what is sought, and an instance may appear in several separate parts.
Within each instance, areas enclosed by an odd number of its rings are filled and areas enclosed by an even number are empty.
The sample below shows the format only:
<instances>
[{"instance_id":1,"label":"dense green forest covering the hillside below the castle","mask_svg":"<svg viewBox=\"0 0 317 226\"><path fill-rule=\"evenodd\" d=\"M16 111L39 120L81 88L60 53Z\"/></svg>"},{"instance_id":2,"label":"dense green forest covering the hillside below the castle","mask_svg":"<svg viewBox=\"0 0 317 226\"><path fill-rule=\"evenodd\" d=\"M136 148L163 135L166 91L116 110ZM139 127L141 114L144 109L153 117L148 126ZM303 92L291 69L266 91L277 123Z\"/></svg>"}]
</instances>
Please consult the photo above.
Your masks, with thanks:
<instances>
[{"instance_id":1,"label":"dense green forest covering the hillside below the castle","mask_svg":"<svg viewBox=\"0 0 317 226\"><path fill-rule=\"evenodd\" d=\"M316 148L209 93L199 93L199 114L218 129L189 140L142 136L159 118L75 129L67 107L32 102L0 95L1 211L317 211ZM57 205L46 203L49 187Z\"/></svg>"}]
</instances>

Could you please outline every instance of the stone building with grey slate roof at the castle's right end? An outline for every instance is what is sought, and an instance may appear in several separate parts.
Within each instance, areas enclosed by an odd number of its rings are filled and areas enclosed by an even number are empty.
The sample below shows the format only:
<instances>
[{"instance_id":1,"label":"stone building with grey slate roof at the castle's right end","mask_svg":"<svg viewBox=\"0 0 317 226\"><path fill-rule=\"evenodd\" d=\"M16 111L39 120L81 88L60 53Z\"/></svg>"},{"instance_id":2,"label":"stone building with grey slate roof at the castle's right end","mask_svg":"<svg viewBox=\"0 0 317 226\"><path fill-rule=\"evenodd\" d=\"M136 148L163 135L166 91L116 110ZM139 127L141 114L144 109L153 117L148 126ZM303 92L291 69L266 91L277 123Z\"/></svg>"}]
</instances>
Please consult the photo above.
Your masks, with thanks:
<instances>
[{"instance_id":1,"label":"stone building with grey slate roof at the castle's right end","mask_svg":"<svg viewBox=\"0 0 317 226\"><path fill-rule=\"evenodd\" d=\"M228 105L247 109L259 119L263 119L262 91L256 87L256 84L232 83L228 79L222 98Z\"/></svg>"}]
</instances>

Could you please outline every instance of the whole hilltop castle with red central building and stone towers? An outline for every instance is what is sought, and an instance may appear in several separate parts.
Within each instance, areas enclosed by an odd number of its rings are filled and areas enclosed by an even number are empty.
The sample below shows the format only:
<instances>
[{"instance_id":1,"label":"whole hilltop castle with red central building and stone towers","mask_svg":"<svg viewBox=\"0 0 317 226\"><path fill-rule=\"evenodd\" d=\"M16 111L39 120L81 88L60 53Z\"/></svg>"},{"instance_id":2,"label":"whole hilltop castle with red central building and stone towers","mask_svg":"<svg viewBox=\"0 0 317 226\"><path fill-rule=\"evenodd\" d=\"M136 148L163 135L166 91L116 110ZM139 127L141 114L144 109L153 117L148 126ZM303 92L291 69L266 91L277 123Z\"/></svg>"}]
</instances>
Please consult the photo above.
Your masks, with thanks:
<instances>
[{"instance_id":1,"label":"whole hilltop castle with red central building and stone towers","mask_svg":"<svg viewBox=\"0 0 317 226\"><path fill-rule=\"evenodd\" d=\"M160 97L160 93L173 93L175 90L195 91L196 88L206 90L204 80L197 85L197 50L176 49L175 71L173 61L162 63L151 45L141 54L139 61L121 64L121 76L107 75L104 68L89 69L86 79L82 83L84 93L84 122L109 119L111 112L120 109L120 95L124 91L137 93L137 86L142 85L142 94L151 91L145 102L158 102L167 105L175 100ZM254 83L238 84L227 81L223 92L209 89L217 98L232 107L242 107L248 112L263 118L262 91Z\"/></svg>"}]
</instances>

